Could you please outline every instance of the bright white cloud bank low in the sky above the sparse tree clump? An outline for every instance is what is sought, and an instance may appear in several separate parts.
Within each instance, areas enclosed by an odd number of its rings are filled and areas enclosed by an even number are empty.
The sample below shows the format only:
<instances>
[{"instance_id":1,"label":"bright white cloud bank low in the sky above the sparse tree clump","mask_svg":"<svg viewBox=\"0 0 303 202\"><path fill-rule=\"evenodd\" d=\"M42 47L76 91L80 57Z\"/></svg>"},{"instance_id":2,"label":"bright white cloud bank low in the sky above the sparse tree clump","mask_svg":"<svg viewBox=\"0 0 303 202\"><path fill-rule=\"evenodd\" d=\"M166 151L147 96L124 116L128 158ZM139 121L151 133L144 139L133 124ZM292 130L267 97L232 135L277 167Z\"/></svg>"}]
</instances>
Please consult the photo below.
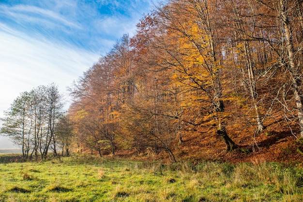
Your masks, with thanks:
<instances>
[{"instance_id":1,"label":"bright white cloud bank low in the sky above the sparse tree clump","mask_svg":"<svg viewBox=\"0 0 303 202\"><path fill-rule=\"evenodd\" d=\"M6 30L7 31L7 30ZM56 83L66 92L76 78L98 60L99 55L57 43L16 37L0 30L0 117L20 92Z\"/></svg>"}]
</instances>

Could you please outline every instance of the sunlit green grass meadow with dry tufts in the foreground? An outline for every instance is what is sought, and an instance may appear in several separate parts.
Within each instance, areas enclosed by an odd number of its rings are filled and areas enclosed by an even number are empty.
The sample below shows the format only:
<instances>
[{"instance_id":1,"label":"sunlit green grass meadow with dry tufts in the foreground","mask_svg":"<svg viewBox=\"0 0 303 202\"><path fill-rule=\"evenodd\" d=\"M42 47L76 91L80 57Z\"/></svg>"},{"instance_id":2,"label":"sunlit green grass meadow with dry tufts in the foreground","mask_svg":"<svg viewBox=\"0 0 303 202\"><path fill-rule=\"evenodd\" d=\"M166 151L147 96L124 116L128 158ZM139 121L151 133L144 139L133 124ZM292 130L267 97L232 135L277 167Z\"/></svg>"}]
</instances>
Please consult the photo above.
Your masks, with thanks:
<instances>
[{"instance_id":1,"label":"sunlit green grass meadow with dry tufts in the foreground","mask_svg":"<svg viewBox=\"0 0 303 202\"><path fill-rule=\"evenodd\" d=\"M43 162L12 159L18 158L0 155L4 202L303 201L302 165L163 164L91 156Z\"/></svg>"}]
</instances>

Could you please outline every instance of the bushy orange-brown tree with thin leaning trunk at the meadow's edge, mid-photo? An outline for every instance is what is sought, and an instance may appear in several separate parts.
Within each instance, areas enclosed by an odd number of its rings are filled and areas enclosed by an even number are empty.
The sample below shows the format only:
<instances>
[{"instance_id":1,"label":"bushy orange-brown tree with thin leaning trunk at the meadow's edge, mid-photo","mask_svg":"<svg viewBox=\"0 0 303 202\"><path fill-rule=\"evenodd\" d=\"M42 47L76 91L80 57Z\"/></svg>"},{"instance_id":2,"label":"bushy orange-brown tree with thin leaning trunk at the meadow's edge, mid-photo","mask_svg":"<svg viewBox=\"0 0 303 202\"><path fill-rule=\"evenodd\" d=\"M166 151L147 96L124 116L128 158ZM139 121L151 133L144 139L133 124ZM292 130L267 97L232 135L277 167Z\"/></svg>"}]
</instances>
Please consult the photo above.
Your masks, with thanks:
<instances>
[{"instance_id":1,"label":"bushy orange-brown tree with thin leaning trunk at the meadow's edge, mid-photo","mask_svg":"<svg viewBox=\"0 0 303 202\"><path fill-rule=\"evenodd\" d=\"M164 150L171 161L176 161L171 149L176 133L175 118L170 115L170 80L167 72L153 72L151 68L145 71L137 87L140 93L121 110L120 132L136 151L151 149L157 154Z\"/></svg>"}]
</instances>

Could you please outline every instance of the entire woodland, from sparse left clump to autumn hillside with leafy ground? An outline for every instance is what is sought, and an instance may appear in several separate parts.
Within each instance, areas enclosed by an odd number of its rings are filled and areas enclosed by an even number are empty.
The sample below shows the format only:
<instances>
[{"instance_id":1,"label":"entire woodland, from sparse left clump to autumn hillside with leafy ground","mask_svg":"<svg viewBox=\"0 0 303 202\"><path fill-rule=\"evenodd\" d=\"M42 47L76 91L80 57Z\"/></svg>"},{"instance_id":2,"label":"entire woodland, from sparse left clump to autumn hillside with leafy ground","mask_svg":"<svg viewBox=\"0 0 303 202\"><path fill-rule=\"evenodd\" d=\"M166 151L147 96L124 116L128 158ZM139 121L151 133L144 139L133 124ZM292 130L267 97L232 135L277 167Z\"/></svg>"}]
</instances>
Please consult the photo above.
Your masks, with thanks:
<instances>
[{"instance_id":1,"label":"entire woodland, from sparse left clump to autumn hillside with leafy ground","mask_svg":"<svg viewBox=\"0 0 303 202\"><path fill-rule=\"evenodd\" d=\"M302 160L302 18L302 0L167 0L71 85L67 112L38 87L1 133L25 158Z\"/></svg>"}]
</instances>

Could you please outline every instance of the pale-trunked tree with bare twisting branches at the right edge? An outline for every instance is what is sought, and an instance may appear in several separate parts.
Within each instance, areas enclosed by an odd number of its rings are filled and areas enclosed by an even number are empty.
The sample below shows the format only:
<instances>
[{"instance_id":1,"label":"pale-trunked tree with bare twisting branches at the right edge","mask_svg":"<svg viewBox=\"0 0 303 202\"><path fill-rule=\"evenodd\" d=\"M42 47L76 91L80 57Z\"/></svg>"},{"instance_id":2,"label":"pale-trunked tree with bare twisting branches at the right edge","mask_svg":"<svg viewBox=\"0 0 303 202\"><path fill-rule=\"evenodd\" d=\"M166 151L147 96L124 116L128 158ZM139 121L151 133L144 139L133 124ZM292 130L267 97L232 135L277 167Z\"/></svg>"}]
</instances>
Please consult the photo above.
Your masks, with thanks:
<instances>
[{"instance_id":1,"label":"pale-trunked tree with bare twisting branches at the right edge","mask_svg":"<svg viewBox=\"0 0 303 202\"><path fill-rule=\"evenodd\" d=\"M272 47L273 53L278 58L276 65L289 78L286 83L280 83L280 88L276 92L276 98L281 96L281 101L279 102L285 107L286 111L295 110L297 112L300 137L303 137L303 95L301 82L303 57L302 22L300 21L302 19L303 2L300 0L255 0L255 2L261 5L259 10L260 15L270 16L274 19L272 25L275 29L267 29L268 34L262 36L261 39ZM275 101L277 100L275 99ZM292 100L295 102L295 107L292 107Z\"/></svg>"}]
</instances>

